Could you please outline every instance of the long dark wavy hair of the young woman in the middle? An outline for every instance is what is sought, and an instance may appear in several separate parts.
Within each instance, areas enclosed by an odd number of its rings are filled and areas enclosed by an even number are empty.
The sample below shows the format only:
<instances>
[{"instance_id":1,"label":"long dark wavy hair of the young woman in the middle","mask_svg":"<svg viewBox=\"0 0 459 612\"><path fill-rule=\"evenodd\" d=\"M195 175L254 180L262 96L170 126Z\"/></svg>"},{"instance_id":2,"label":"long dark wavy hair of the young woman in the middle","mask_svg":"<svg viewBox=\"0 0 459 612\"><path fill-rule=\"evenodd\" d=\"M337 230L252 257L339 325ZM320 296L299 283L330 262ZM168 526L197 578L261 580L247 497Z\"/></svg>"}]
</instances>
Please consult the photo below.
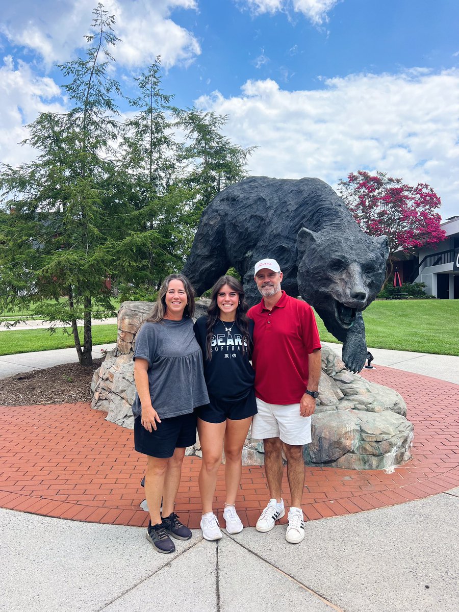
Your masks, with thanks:
<instances>
[{"instance_id":1,"label":"long dark wavy hair of the young woman in the middle","mask_svg":"<svg viewBox=\"0 0 459 612\"><path fill-rule=\"evenodd\" d=\"M233 291L236 291L236 293L239 294L239 304L236 308L236 326L239 327L239 330L242 332L242 351L245 352L246 348L248 349L249 354L252 351L252 339L248 333L248 304L245 301L244 288L237 278L234 278L234 276L225 275L218 278L217 282L212 287L211 304L209 305L209 308L207 308L206 359L209 360L212 359L212 331L220 319L220 308L217 306L217 294L220 289L222 289L223 285L230 286Z\"/></svg>"}]
</instances>

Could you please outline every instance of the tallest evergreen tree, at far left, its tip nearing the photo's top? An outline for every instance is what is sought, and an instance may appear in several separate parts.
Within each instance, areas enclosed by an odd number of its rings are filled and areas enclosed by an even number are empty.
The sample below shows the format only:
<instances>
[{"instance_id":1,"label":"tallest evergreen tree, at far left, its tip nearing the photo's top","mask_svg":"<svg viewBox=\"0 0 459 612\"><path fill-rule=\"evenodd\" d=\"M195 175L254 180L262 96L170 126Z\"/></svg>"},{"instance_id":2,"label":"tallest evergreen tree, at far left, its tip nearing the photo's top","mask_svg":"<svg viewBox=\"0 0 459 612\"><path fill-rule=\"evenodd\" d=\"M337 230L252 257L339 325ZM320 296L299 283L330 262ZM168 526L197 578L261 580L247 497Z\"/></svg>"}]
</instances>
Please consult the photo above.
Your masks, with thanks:
<instances>
[{"instance_id":1,"label":"tallest evergreen tree, at far left, its tip nearing the photo's top","mask_svg":"<svg viewBox=\"0 0 459 612\"><path fill-rule=\"evenodd\" d=\"M18 168L2 165L0 189L12 207L2 228L0 305L35 304L35 313L72 327L78 359L92 363L91 317L113 314L106 279L113 253L116 202L105 197L116 172L111 142L118 136L114 96L119 84L109 75L109 48L118 42L114 17L94 10L94 34L86 36L86 57L62 64L75 106L66 114L42 113L24 143L39 155ZM65 302L58 301L66 296ZM44 299L54 299L51 304ZM83 319L83 345L77 320Z\"/></svg>"}]
</instances>

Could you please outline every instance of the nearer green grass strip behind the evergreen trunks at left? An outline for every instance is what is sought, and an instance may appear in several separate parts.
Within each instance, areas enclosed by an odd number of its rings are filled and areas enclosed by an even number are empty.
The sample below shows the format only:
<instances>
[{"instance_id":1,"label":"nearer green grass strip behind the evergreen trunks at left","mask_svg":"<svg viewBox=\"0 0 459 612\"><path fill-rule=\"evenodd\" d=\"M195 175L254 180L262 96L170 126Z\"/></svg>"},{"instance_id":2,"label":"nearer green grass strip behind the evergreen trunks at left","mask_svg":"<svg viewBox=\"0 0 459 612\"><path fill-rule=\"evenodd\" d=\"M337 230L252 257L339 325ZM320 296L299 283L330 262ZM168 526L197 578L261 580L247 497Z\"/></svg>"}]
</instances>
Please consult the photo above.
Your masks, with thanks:
<instances>
[{"instance_id":1,"label":"nearer green grass strip behind the evergreen trunks at left","mask_svg":"<svg viewBox=\"0 0 459 612\"><path fill-rule=\"evenodd\" d=\"M83 343L82 330L81 327L81 343ZM116 334L116 325L94 325L92 326L92 344L116 342ZM0 356L51 351L74 346L73 335L64 334L62 329L56 330L54 334L50 334L46 329L18 329L17 331L0 332Z\"/></svg>"}]
</instances>

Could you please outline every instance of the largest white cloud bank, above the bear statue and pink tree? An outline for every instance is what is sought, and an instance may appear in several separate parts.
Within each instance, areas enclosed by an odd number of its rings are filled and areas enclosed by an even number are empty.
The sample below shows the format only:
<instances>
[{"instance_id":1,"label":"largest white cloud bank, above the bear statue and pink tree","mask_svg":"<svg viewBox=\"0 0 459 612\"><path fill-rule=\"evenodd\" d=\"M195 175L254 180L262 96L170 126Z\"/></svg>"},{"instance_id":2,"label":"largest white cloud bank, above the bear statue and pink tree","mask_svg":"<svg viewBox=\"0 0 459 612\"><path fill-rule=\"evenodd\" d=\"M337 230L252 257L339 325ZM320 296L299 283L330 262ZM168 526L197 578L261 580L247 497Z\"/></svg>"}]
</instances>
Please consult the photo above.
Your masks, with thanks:
<instances>
[{"instance_id":1,"label":"largest white cloud bank, above the bear statue and pink tree","mask_svg":"<svg viewBox=\"0 0 459 612\"><path fill-rule=\"evenodd\" d=\"M251 174L317 176L332 185L351 171L386 171L427 182L444 218L459 214L459 70L349 75L323 89L283 91L247 81L238 97L219 92L196 103L227 114L226 133L258 145Z\"/></svg>"}]
</instances>

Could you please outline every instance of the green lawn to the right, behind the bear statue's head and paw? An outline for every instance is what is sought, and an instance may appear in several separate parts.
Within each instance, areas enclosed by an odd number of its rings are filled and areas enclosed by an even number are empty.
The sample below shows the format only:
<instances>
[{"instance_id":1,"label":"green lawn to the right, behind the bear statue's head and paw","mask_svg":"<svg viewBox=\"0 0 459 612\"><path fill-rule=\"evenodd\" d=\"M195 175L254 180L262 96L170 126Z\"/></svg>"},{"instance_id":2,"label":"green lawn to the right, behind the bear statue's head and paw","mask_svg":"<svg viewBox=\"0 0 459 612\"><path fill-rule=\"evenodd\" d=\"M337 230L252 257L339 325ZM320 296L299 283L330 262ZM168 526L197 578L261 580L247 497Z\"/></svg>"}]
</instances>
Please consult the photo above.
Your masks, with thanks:
<instances>
[{"instance_id":1,"label":"green lawn to the right, behind the bear statue's head and paw","mask_svg":"<svg viewBox=\"0 0 459 612\"><path fill-rule=\"evenodd\" d=\"M378 300L363 314L368 346L459 356L459 300ZM337 342L316 320L321 340Z\"/></svg>"}]
</instances>

